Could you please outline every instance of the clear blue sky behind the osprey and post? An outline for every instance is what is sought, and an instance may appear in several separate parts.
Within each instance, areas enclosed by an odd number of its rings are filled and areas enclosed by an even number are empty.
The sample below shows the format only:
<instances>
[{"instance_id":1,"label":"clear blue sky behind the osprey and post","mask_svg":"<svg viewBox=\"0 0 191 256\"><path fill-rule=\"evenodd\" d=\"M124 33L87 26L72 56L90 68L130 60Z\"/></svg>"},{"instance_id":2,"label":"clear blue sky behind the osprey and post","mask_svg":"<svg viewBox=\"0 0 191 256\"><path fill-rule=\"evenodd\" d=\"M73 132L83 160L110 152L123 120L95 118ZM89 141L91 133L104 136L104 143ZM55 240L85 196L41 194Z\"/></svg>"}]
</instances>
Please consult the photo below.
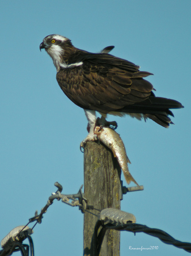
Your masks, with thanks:
<instances>
[{"instance_id":1,"label":"clear blue sky behind the osprey and post","mask_svg":"<svg viewBox=\"0 0 191 256\"><path fill-rule=\"evenodd\" d=\"M154 73L148 80L157 96L185 106L173 111L175 125L169 129L151 120L116 121L129 169L145 188L125 195L121 209L137 223L191 242L190 10L189 0L1 1L0 240L40 212L55 181L63 193L76 193L83 184L79 145L87 121L60 90L51 58L39 50L45 36L57 33L91 52L114 45L113 55ZM82 255L83 215L55 201L32 238L36 256ZM121 233L121 256L162 254L187 255L146 234Z\"/></svg>"}]
</instances>

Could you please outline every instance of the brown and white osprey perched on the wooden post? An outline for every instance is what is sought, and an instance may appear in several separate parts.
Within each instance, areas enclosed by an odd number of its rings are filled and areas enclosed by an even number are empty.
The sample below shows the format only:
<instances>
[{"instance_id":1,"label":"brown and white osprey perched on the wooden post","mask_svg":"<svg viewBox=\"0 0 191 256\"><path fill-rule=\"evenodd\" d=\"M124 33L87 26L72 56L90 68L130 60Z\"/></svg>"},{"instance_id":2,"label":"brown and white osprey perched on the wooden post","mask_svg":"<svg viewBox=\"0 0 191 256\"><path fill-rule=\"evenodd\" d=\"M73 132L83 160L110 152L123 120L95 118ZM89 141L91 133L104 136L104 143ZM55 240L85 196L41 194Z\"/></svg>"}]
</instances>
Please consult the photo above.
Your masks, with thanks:
<instances>
[{"instance_id":1,"label":"brown and white osprey perched on the wooden post","mask_svg":"<svg viewBox=\"0 0 191 256\"><path fill-rule=\"evenodd\" d=\"M101 53L91 53L75 48L71 40L54 34L43 39L41 49L52 58L62 91L85 110L89 134L82 145L95 139L95 111L102 115L99 124L103 126L117 126L116 122L106 122L107 114L128 114L139 120L150 118L167 128L173 124L168 115L174 116L169 109L183 107L178 101L156 97L152 84L144 79L152 74L109 54L112 46Z\"/></svg>"}]
</instances>

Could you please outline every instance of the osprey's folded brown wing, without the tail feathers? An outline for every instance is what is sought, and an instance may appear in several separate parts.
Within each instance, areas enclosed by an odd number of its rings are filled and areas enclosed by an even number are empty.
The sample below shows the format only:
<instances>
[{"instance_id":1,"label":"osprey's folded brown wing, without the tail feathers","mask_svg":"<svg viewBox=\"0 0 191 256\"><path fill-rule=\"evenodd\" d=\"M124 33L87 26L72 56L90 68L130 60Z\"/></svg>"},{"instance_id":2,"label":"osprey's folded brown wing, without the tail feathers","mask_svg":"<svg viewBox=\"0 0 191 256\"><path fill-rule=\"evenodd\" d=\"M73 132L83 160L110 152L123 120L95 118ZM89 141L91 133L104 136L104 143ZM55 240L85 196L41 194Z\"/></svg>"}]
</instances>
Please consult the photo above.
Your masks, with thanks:
<instances>
[{"instance_id":1,"label":"osprey's folded brown wing, without the tail feathers","mask_svg":"<svg viewBox=\"0 0 191 256\"><path fill-rule=\"evenodd\" d=\"M61 68L57 81L63 92L79 107L102 113L145 101L153 86L143 77L149 72L107 53L81 53L71 63L80 66Z\"/></svg>"}]
</instances>

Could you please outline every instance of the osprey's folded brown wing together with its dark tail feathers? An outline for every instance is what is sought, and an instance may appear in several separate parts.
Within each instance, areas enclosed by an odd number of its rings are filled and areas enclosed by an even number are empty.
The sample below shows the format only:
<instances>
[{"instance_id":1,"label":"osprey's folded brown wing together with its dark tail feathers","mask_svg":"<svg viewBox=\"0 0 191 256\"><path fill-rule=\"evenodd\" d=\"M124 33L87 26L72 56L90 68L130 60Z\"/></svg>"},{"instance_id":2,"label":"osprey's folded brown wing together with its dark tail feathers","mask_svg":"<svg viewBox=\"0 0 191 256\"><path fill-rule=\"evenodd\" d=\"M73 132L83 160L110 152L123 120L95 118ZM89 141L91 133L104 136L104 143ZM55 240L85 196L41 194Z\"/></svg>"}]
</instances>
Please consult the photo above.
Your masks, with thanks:
<instances>
[{"instance_id":1,"label":"osprey's folded brown wing together with its dark tail feathers","mask_svg":"<svg viewBox=\"0 0 191 256\"><path fill-rule=\"evenodd\" d=\"M60 69L57 81L63 92L79 107L102 113L141 113L168 127L173 116L169 108L181 108L177 101L155 97L153 86L143 77L139 66L107 53L78 51L68 64L82 61L82 66Z\"/></svg>"}]
</instances>

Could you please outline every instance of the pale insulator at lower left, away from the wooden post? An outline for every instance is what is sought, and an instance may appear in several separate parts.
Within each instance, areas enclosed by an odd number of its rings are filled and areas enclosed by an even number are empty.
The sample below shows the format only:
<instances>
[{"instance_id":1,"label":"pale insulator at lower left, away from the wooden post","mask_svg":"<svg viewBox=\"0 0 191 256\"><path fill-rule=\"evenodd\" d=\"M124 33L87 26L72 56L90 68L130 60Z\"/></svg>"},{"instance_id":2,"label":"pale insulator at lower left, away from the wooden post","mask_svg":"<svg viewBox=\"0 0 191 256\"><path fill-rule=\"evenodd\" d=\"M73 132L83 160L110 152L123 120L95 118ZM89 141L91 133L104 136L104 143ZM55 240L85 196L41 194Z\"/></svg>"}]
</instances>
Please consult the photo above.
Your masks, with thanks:
<instances>
[{"instance_id":1,"label":"pale insulator at lower left, away from the wooden post","mask_svg":"<svg viewBox=\"0 0 191 256\"><path fill-rule=\"evenodd\" d=\"M26 237L25 237L25 236L22 237L22 234L23 234L23 233L21 233L21 235L18 237L18 233L19 233L24 227L25 227L25 226L18 226L18 227L16 227L16 228L12 229L11 232L9 232L9 234L8 234L6 237L4 237L4 238L2 239L2 241L1 241L1 247L2 247L2 248L5 248L5 247L12 246L12 243L13 243L15 240L17 240L17 241L19 241L19 242L25 240ZM26 227L23 229L23 231L27 231L28 234L32 234L32 230L31 230L28 226L26 226ZM22 231L22 232L23 232L23 231Z\"/></svg>"}]
</instances>

